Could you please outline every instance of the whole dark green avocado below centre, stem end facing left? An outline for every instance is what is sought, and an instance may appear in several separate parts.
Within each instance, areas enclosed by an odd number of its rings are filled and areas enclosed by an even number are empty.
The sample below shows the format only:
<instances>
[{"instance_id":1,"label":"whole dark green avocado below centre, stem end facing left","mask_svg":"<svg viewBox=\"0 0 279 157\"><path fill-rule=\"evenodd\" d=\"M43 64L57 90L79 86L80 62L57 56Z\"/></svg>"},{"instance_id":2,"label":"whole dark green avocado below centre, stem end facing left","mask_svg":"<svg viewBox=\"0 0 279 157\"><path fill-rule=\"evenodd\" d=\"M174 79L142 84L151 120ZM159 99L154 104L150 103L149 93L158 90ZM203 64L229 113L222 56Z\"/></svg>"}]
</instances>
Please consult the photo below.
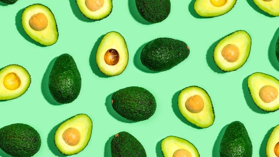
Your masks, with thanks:
<instances>
[{"instance_id":1,"label":"whole dark green avocado below centre, stem end facing left","mask_svg":"<svg viewBox=\"0 0 279 157\"><path fill-rule=\"evenodd\" d=\"M156 110L154 96L142 87L127 87L111 97L112 108L122 117L132 121L149 119Z\"/></svg>"}]
</instances>

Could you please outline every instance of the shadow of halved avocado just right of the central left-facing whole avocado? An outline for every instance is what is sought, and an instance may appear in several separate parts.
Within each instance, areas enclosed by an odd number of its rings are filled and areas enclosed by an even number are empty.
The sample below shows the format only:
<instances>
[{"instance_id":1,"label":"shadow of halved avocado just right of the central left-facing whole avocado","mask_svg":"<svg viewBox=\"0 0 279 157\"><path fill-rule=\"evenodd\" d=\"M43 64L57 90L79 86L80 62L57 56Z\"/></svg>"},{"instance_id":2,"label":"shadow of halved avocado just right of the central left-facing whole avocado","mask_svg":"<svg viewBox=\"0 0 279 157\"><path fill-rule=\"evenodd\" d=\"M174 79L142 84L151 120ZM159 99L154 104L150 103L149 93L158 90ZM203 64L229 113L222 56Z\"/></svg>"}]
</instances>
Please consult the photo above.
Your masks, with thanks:
<instances>
[{"instance_id":1,"label":"shadow of halved avocado just right of the central left-facing whole avocado","mask_svg":"<svg viewBox=\"0 0 279 157\"><path fill-rule=\"evenodd\" d=\"M180 113L179 109L178 109L178 95L179 95L180 91L176 92L174 94L174 96L172 97L171 99L171 102L172 102L172 110L174 111L174 114L176 115L176 117L178 117L178 119L180 119L181 122L189 125L189 126L192 126L193 128L196 128L196 129L202 129L194 124L192 124L191 122L189 122L186 118L183 117L183 115Z\"/></svg>"}]
</instances>

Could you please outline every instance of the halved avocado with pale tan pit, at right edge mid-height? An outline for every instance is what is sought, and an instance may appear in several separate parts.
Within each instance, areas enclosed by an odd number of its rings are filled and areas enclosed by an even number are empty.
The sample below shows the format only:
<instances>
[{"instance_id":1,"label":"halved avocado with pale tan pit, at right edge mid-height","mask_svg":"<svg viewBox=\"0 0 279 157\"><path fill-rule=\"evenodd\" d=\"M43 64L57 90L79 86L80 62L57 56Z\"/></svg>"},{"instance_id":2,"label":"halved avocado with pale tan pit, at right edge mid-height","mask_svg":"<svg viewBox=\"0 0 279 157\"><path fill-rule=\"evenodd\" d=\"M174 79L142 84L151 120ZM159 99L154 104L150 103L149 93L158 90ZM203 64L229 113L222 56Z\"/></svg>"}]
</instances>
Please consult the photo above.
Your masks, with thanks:
<instances>
[{"instance_id":1,"label":"halved avocado with pale tan pit, at right edge mid-height","mask_svg":"<svg viewBox=\"0 0 279 157\"><path fill-rule=\"evenodd\" d=\"M273 76L256 72L248 77L248 89L255 104L262 110L279 109L279 81Z\"/></svg>"}]
</instances>

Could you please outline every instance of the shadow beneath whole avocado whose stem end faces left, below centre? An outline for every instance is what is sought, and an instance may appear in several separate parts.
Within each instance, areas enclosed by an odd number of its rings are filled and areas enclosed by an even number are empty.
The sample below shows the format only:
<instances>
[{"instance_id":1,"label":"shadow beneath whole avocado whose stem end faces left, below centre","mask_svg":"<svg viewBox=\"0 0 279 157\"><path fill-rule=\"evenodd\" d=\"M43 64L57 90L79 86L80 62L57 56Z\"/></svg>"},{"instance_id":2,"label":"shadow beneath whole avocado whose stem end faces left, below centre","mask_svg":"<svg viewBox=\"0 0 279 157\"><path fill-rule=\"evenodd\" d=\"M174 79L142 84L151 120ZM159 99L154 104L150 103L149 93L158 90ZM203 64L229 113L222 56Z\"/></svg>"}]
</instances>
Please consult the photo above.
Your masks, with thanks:
<instances>
[{"instance_id":1,"label":"shadow beneath whole avocado whose stem end faces left, below centre","mask_svg":"<svg viewBox=\"0 0 279 157\"><path fill-rule=\"evenodd\" d=\"M108 110L108 113L114 117L115 119L119 120L120 122L125 122L125 123L135 123L135 121L131 121L128 120L124 117L122 117L121 115L119 115L113 108L112 108L112 104L111 104L111 96L113 93L111 93L110 95L108 95L108 97L105 99L105 106Z\"/></svg>"}]
</instances>

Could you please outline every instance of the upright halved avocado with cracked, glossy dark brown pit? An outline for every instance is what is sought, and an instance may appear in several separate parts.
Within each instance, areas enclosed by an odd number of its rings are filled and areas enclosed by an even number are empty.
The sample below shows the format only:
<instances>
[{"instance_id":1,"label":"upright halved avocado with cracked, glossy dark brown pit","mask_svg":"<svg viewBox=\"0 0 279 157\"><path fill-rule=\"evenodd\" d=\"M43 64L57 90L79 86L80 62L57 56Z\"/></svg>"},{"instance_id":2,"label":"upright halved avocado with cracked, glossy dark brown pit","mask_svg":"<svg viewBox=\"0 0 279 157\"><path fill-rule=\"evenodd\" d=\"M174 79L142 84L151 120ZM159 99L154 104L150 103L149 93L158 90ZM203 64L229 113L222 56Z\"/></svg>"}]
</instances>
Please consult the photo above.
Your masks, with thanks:
<instances>
[{"instance_id":1,"label":"upright halved avocado with cracked, glossy dark brown pit","mask_svg":"<svg viewBox=\"0 0 279 157\"><path fill-rule=\"evenodd\" d=\"M104 35L96 53L99 70L107 76L121 74L129 60L128 49L123 36L118 32Z\"/></svg>"}]
</instances>

